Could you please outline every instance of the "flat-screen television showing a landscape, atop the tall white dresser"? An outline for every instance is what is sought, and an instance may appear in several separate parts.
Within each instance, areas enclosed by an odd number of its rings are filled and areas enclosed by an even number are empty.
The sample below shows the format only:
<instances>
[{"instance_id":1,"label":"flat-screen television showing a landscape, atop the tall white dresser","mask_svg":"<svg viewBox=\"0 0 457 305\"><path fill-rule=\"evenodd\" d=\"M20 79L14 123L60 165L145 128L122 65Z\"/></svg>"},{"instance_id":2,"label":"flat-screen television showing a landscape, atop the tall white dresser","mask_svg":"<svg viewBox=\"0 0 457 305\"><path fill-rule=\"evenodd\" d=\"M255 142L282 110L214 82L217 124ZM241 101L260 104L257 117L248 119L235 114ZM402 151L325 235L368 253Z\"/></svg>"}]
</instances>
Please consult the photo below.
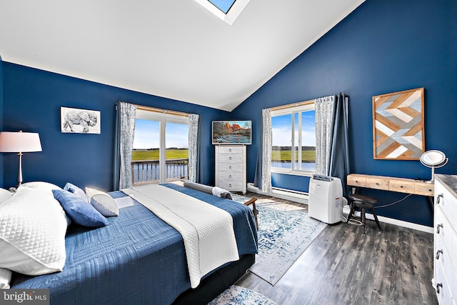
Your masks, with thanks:
<instances>
[{"instance_id":1,"label":"flat-screen television showing a landscape, atop the tall white dresser","mask_svg":"<svg viewBox=\"0 0 457 305\"><path fill-rule=\"evenodd\" d=\"M251 121L213 121L213 144L251 144Z\"/></svg>"}]
</instances>

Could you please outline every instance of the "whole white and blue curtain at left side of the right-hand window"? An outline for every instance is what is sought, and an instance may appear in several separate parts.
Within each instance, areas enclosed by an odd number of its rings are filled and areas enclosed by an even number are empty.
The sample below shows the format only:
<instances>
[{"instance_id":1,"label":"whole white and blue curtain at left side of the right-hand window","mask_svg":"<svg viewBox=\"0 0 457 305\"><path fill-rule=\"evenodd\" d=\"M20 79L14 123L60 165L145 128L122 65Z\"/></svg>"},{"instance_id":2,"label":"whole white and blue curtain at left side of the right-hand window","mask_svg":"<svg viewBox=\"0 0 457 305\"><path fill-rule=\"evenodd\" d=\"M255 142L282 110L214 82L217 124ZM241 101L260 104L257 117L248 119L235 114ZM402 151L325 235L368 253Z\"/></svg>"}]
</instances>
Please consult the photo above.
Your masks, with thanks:
<instances>
[{"instance_id":1,"label":"whole white and blue curtain at left side of the right-hand window","mask_svg":"<svg viewBox=\"0 0 457 305\"><path fill-rule=\"evenodd\" d=\"M261 139L254 186L269 194L271 193L271 109L262 109Z\"/></svg>"}]
</instances>

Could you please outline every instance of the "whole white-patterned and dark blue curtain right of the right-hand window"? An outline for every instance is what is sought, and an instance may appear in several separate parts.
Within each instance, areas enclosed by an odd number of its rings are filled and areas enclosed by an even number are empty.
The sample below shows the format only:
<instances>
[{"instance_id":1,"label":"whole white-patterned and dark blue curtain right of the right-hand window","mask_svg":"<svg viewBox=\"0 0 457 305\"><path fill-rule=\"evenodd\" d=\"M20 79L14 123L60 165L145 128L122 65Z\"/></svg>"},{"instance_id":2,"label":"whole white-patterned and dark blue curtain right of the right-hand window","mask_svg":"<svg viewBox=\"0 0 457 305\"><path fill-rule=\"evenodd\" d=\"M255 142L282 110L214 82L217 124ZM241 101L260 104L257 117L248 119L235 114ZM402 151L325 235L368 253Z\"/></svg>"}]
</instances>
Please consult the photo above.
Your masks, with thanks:
<instances>
[{"instance_id":1,"label":"whole white-patterned and dark blue curtain right of the right-hand window","mask_svg":"<svg viewBox=\"0 0 457 305\"><path fill-rule=\"evenodd\" d=\"M316 103L316 174L338 177L343 196L350 194L346 184L349 174L348 97L326 96Z\"/></svg>"}]
</instances>

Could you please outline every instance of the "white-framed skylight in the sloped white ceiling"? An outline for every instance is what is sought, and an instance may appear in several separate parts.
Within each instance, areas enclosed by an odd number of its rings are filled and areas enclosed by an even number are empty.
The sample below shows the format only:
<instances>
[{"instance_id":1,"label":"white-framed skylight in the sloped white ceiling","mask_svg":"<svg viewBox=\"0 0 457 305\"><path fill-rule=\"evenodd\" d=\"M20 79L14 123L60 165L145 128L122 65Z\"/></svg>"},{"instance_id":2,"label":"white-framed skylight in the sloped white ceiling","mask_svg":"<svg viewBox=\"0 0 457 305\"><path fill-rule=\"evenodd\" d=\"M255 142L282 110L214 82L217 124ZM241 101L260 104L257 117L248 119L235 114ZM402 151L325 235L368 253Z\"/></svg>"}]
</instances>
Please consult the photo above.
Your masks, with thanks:
<instances>
[{"instance_id":1,"label":"white-framed skylight in the sloped white ceiling","mask_svg":"<svg viewBox=\"0 0 457 305\"><path fill-rule=\"evenodd\" d=\"M232 25L251 0L195 0L219 19Z\"/></svg>"}]
</instances>

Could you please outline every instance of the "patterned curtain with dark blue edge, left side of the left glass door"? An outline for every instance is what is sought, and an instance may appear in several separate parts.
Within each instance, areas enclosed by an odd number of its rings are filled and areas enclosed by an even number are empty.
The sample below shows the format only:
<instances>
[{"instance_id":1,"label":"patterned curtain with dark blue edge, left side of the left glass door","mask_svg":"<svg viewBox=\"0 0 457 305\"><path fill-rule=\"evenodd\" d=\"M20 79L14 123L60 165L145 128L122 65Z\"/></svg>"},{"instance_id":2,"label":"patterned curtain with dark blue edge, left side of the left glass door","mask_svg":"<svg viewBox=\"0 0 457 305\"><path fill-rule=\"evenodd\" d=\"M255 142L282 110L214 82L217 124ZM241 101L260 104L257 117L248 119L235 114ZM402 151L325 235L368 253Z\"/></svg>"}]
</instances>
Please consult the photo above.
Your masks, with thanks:
<instances>
[{"instance_id":1,"label":"patterned curtain with dark blue edge, left side of the left glass door","mask_svg":"<svg viewBox=\"0 0 457 305\"><path fill-rule=\"evenodd\" d=\"M116 139L114 141L114 190L132 186L131 154L134 148L136 105L116 104Z\"/></svg>"}]
</instances>

